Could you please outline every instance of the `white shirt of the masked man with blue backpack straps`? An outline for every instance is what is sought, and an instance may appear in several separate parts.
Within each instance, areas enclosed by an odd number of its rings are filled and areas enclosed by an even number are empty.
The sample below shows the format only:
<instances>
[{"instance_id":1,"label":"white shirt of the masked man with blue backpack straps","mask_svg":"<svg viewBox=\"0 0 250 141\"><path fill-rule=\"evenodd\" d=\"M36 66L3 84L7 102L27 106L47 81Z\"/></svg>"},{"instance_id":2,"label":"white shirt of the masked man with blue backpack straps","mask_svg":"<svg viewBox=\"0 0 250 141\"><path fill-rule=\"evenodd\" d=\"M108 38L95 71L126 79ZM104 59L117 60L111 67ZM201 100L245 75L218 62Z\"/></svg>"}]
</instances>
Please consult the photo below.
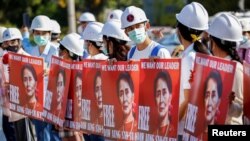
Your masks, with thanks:
<instances>
[{"instance_id":1,"label":"white shirt of the masked man with blue backpack straps","mask_svg":"<svg viewBox=\"0 0 250 141\"><path fill-rule=\"evenodd\" d=\"M150 54L152 52L152 50L159 45L157 42L155 41L151 41L151 43L143 50L138 50L137 47L135 49L135 52L132 56L132 58L129 58L129 54L131 49L128 52L128 59L134 59L134 60L140 60L140 59L145 59L145 58L149 58ZM165 48L161 48L157 54L158 57L160 58L171 58L171 55L169 53L169 51Z\"/></svg>"}]
</instances>

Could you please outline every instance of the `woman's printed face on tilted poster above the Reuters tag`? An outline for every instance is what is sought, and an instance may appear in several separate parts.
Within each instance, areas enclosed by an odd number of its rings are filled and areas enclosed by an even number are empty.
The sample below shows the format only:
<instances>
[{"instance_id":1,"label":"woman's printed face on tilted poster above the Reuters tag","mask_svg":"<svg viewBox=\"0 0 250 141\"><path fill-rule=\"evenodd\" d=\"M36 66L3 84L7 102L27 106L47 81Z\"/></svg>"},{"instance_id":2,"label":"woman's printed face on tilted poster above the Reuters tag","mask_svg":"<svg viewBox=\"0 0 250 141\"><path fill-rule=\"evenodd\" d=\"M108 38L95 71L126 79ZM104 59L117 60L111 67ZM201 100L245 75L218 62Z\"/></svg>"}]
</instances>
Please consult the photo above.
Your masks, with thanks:
<instances>
[{"instance_id":1,"label":"woman's printed face on tilted poster above the Reuters tag","mask_svg":"<svg viewBox=\"0 0 250 141\"><path fill-rule=\"evenodd\" d=\"M217 90L217 83L214 79L209 79L205 94L205 118L207 123L213 123L220 98Z\"/></svg>"}]
</instances>

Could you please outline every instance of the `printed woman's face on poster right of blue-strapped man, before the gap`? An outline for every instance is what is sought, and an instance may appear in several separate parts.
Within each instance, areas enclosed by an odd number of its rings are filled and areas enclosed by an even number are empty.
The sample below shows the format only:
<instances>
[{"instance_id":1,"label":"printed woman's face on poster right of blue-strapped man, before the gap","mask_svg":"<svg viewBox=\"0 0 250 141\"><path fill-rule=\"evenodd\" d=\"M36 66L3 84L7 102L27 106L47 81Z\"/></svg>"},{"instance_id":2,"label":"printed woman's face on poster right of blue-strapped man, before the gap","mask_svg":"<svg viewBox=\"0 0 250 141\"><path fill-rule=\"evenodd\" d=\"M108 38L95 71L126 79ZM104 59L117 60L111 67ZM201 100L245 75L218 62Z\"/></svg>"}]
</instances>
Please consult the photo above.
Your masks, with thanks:
<instances>
[{"instance_id":1,"label":"printed woman's face on poster right of blue-strapped man, before the gap","mask_svg":"<svg viewBox=\"0 0 250 141\"><path fill-rule=\"evenodd\" d=\"M167 83L163 79L158 79L156 84L155 101L157 112L161 118L168 115L168 107L170 105L171 95Z\"/></svg>"}]
</instances>

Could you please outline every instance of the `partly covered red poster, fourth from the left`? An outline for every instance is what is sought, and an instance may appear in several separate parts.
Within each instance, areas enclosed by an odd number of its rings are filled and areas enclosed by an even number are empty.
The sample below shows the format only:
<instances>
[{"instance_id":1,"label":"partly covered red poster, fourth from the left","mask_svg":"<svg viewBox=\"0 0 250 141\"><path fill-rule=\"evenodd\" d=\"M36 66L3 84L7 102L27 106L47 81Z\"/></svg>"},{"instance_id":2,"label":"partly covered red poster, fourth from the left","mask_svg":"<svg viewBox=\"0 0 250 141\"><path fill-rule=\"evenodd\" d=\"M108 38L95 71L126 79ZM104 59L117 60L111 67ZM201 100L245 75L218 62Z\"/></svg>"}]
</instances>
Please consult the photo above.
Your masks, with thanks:
<instances>
[{"instance_id":1,"label":"partly covered red poster, fourth from the left","mask_svg":"<svg viewBox=\"0 0 250 141\"><path fill-rule=\"evenodd\" d=\"M83 131L103 135L103 94L100 60L83 61Z\"/></svg>"}]
</instances>

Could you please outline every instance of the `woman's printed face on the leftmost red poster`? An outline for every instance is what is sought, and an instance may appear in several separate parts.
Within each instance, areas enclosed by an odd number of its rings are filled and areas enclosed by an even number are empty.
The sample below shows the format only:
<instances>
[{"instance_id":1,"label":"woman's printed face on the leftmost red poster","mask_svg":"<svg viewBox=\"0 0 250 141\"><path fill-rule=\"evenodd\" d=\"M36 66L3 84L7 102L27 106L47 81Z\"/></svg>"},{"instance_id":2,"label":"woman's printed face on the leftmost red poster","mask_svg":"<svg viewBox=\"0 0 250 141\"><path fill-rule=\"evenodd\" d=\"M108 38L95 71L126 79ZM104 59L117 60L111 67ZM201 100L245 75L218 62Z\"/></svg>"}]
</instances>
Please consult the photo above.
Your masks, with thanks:
<instances>
[{"instance_id":1,"label":"woman's printed face on the leftmost red poster","mask_svg":"<svg viewBox=\"0 0 250 141\"><path fill-rule=\"evenodd\" d=\"M25 91L28 94L28 96L35 95L37 82L32 72L27 68L25 68L23 71L23 84L24 84Z\"/></svg>"}]
</instances>

